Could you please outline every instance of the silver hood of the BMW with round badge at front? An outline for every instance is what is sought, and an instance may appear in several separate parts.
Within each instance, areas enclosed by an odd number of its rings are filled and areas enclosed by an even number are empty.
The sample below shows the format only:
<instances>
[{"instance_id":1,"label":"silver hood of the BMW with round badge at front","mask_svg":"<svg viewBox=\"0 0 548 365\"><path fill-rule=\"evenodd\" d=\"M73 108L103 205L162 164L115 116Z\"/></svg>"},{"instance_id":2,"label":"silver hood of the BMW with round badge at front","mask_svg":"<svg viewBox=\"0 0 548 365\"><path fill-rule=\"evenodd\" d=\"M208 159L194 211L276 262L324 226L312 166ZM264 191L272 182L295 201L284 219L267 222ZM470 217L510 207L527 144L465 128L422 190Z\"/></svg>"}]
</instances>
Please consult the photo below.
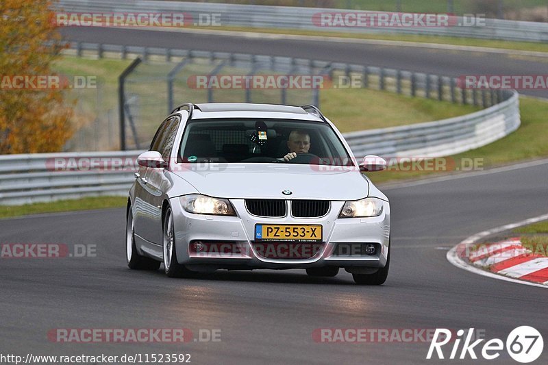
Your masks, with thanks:
<instances>
[{"instance_id":1,"label":"silver hood of the BMW with round badge at front","mask_svg":"<svg viewBox=\"0 0 548 365\"><path fill-rule=\"evenodd\" d=\"M217 171L178 169L175 175L210 197L356 200L367 197L369 183L356 168L314 165L226 164ZM282 194L290 190L291 194Z\"/></svg>"}]
</instances>

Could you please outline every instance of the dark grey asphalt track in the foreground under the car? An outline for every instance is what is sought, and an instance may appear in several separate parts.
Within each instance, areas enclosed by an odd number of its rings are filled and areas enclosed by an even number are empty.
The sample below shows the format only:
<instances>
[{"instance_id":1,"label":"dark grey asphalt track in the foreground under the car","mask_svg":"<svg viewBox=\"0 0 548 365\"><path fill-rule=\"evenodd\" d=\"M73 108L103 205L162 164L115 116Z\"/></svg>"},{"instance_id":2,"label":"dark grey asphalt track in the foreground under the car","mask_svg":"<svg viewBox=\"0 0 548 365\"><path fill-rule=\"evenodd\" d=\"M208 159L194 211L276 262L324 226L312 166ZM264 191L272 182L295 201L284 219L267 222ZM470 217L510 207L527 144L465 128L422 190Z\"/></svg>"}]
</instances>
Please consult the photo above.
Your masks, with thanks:
<instances>
[{"instance_id":1,"label":"dark grey asphalt track in the foreground under the car","mask_svg":"<svg viewBox=\"0 0 548 365\"><path fill-rule=\"evenodd\" d=\"M95 244L97 257L0 259L0 353L190 353L195 364L418 364L429 343L316 343L312 332L474 327L506 340L514 327L532 325L547 340L548 290L475 275L445 259L466 236L546 213L546 181L548 161L386 189L393 253L388 281L379 287L356 286L346 272L329 279L303 270L169 279L161 270L129 270L121 209L2 220L2 243ZM55 328L175 327L221 329L221 342L47 340ZM539 361L547 356L545 349ZM496 363L515 364L505 352Z\"/></svg>"}]
</instances>

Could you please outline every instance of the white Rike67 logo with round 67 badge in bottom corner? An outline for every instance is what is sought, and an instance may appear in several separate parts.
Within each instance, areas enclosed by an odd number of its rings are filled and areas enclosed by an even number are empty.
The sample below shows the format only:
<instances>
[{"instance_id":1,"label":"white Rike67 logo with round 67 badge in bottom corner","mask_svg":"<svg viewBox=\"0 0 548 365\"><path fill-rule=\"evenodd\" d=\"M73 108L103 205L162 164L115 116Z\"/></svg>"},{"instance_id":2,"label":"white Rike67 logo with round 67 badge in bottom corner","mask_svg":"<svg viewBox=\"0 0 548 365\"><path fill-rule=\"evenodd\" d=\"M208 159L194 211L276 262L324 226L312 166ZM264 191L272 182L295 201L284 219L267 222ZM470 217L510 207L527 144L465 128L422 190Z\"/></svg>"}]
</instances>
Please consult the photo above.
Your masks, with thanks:
<instances>
[{"instance_id":1,"label":"white Rike67 logo with round 67 badge in bottom corner","mask_svg":"<svg viewBox=\"0 0 548 365\"><path fill-rule=\"evenodd\" d=\"M443 360L447 359L477 359L479 354L485 360L495 360L505 350L505 343L499 338L493 338L486 342L484 338L473 339L474 329L459 329L456 338L452 337L453 332L445 328L436 328L434 338L430 342L430 347L426 358ZM451 353L447 357L447 350L444 353L442 347L452 342ZM484 342L482 344L482 342ZM462 347L460 344L462 343ZM482 345L480 345L482 344ZM449 346L451 347L451 346ZM506 338L506 351L516 362L526 364L538 359L543 353L544 341L540 332L530 326L521 326L513 329Z\"/></svg>"}]
</instances>

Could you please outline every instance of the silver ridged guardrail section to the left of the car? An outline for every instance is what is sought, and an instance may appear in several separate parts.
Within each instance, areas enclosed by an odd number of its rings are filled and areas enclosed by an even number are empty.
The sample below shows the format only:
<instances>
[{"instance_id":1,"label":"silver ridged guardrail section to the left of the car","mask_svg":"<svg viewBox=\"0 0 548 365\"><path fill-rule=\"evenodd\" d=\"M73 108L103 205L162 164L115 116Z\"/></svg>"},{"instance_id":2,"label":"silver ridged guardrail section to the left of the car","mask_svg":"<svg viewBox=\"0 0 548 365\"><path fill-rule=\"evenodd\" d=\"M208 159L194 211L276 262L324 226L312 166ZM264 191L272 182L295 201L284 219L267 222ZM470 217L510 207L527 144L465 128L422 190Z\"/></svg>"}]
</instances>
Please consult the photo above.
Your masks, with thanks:
<instances>
[{"instance_id":1,"label":"silver ridged guardrail section to the left of the car","mask_svg":"<svg viewBox=\"0 0 548 365\"><path fill-rule=\"evenodd\" d=\"M0 155L0 204L124 196L139 151ZM114 166L112 166L112 162ZM109 165L109 168L97 166Z\"/></svg>"}]
</instances>

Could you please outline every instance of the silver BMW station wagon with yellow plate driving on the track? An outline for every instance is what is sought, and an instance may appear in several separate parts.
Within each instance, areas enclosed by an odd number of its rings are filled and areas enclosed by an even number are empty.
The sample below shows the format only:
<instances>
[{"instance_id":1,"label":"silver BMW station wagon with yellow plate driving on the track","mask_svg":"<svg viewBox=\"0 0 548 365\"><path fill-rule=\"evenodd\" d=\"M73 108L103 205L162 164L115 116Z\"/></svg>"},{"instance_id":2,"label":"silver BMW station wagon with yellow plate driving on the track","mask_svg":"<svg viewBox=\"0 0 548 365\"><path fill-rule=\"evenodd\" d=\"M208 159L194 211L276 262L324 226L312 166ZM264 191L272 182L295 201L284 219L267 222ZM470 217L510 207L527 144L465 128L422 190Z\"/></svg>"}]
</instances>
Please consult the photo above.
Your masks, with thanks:
<instances>
[{"instance_id":1,"label":"silver BMW station wagon with yellow plate driving on the track","mask_svg":"<svg viewBox=\"0 0 548 365\"><path fill-rule=\"evenodd\" d=\"M386 281L390 204L313 105L186 103L156 132L127 201L132 269L185 277L302 268Z\"/></svg>"}]
</instances>

